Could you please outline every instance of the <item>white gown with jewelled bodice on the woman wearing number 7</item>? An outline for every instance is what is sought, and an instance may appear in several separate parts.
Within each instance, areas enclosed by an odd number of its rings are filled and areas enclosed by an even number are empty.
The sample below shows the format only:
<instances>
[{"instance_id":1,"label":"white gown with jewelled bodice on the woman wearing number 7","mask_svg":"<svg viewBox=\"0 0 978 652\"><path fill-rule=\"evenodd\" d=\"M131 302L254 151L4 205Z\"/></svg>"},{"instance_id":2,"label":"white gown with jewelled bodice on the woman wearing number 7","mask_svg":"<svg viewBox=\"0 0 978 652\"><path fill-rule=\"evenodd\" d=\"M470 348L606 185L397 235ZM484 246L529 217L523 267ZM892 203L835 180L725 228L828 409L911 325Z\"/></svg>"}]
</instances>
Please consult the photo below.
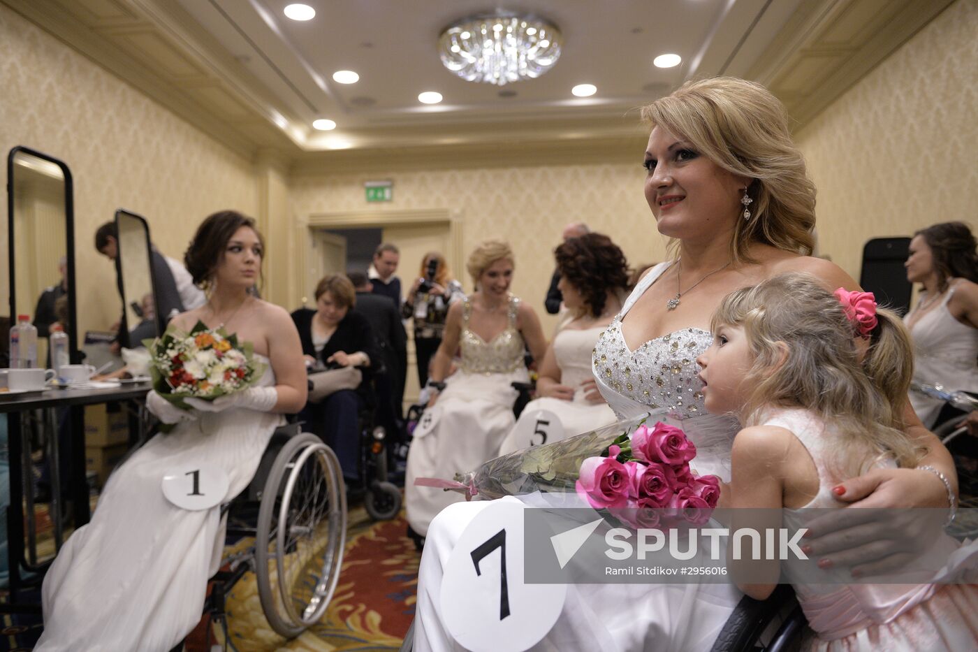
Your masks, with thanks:
<instances>
[{"instance_id":1,"label":"white gown with jewelled bodice on the woman wearing number 7","mask_svg":"<svg viewBox=\"0 0 978 652\"><path fill-rule=\"evenodd\" d=\"M600 335L594 374L619 419L644 412L677 425L696 444L690 466L730 480L737 425L705 413L695 358L711 335L683 329L630 350L621 320L670 263L654 267ZM504 500L516 500L507 497ZM415 650L460 650L445 627L439 594L445 565L468 523L490 501L449 506L430 525L418 578ZM556 625L533 649L568 652L709 650L742 593L732 583L572 584Z\"/></svg>"}]
</instances>

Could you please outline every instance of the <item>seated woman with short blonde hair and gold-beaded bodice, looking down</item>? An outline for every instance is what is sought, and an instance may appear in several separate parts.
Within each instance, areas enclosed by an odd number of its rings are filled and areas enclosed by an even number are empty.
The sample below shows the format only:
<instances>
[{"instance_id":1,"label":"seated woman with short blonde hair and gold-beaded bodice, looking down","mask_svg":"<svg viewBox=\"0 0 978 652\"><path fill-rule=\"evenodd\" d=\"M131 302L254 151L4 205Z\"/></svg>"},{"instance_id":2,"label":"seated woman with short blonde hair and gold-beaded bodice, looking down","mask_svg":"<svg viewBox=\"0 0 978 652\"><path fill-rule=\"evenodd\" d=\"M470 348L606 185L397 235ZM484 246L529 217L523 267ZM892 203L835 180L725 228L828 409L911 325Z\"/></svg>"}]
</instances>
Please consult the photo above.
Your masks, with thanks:
<instances>
[{"instance_id":1,"label":"seated woman with short blonde hair and gold-beaded bodice, looking down","mask_svg":"<svg viewBox=\"0 0 978 652\"><path fill-rule=\"evenodd\" d=\"M420 536L435 514L462 496L415 487L415 479L451 478L496 457L514 422L511 383L528 378L523 352L529 347L539 360L547 349L533 308L510 294L510 246L482 243L468 256L467 269L477 290L449 308L428 380L429 387L442 381L446 387L432 396L408 451L404 502L408 523ZM460 368L446 378L459 349Z\"/></svg>"}]
</instances>

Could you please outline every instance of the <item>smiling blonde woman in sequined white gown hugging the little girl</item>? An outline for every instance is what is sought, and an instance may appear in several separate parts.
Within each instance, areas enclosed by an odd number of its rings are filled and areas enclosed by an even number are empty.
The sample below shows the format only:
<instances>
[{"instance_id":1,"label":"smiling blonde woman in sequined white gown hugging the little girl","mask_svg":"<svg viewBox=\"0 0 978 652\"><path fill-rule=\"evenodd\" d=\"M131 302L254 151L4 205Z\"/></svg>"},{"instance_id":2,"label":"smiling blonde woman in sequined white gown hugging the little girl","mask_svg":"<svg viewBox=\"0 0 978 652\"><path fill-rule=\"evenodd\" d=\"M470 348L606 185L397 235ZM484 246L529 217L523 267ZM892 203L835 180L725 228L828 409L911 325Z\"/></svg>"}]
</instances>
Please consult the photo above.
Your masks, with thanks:
<instances>
[{"instance_id":1,"label":"smiling blonde woman in sequined white gown hugging the little girl","mask_svg":"<svg viewBox=\"0 0 978 652\"><path fill-rule=\"evenodd\" d=\"M791 142L783 107L767 89L725 77L689 82L643 114L652 124L645 199L659 233L677 241L677 257L639 282L600 337L593 371L619 418L651 412L680 426L696 445L693 470L729 482L737 426L704 415L696 378L695 358L712 340L713 309L733 290L787 271L813 274L829 290L858 286L835 264L808 256L815 187ZM955 482L941 442L912 411L905 422L913 440L930 451L920 464ZM866 506L948 507L944 484L925 470L875 470L842 487L839 499L863 499ZM418 578L418 652L460 649L442 615L441 581L456 541L489 504L452 505L431 523ZM875 543L903 551L906 537ZM836 567L858 569L876 559L837 551L823 538L811 545ZM735 586L720 583L570 585L556 625L534 649L709 650L740 597Z\"/></svg>"}]
</instances>

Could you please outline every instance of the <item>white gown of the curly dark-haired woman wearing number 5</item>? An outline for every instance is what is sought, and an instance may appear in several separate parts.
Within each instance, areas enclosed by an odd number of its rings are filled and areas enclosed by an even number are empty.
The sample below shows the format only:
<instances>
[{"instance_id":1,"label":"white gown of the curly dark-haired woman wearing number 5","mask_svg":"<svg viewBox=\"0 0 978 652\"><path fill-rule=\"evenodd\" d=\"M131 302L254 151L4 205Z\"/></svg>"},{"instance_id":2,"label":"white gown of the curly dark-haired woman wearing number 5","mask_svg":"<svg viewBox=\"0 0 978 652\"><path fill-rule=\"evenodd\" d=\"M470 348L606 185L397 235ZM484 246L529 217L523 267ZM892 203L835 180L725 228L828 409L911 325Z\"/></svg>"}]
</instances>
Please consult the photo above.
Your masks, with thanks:
<instances>
[{"instance_id":1,"label":"white gown of the curly dark-haired woman wearing number 5","mask_svg":"<svg viewBox=\"0 0 978 652\"><path fill-rule=\"evenodd\" d=\"M528 402L519 415L516 425L503 440L503 445L499 448L500 455L524 447L517 441L516 434L525 432L524 421L534 418L533 414L537 410L549 410L560 418L559 436L552 436L547 443L559 442L574 435L587 433L617 420L607 403L592 403L584 397L584 390L581 389L581 383L594 377L591 373L591 354L604 328L599 326L584 331L562 330L556 334L554 354L557 366L560 367L560 385L574 388L574 398L561 400L544 396Z\"/></svg>"}]
</instances>

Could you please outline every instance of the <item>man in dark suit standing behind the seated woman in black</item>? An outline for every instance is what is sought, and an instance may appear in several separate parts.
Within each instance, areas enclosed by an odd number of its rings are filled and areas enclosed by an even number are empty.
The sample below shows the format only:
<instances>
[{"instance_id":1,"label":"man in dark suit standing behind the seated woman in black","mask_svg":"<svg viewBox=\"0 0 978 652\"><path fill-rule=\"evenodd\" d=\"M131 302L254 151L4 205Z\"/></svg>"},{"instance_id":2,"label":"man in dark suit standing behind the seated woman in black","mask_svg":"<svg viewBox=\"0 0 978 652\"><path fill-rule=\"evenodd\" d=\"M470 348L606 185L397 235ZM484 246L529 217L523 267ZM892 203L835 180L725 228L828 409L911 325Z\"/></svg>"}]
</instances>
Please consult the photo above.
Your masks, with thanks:
<instances>
[{"instance_id":1,"label":"man in dark suit standing behind the seated woman in black","mask_svg":"<svg viewBox=\"0 0 978 652\"><path fill-rule=\"evenodd\" d=\"M383 363L387 367L387 373L383 374L385 378L378 378L375 382L378 396L381 399L384 394L389 396L389 400L385 402L389 403L395 418L400 421L408 362L408 338L404 332L404 323L393 302L387 297L374 294L366 274L347 272L346 276L357 291L357 303L353 309L367 317L370 322L378 340L378 348L382 352ZM385 383L387 387L384 387Z\"/></svg>"}]
</instances>

